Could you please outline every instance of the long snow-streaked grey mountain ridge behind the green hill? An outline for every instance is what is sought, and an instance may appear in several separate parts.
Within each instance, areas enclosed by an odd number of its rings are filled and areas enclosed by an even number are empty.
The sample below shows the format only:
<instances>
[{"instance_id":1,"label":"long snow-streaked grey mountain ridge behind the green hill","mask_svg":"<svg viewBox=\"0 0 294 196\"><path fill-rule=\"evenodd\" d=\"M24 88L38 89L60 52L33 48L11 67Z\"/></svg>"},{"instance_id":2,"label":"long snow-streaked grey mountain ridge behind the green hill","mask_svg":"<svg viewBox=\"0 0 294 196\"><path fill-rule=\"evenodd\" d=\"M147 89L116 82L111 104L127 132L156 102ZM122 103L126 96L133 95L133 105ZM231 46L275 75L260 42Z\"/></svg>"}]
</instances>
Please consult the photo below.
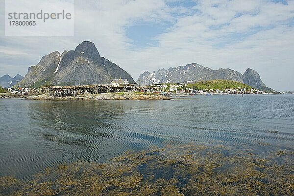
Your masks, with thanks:
<instances>
[{"instance_id":1,"label":"long snow-streaked grey mountain ridge behind the green hill","mask_svg":"<svg viewBox=\"0 0 294 196\"><path fill-rule=\"evenodd\" d=\"M139 76L137 84L145 86L155 83L192 83L214 79L235 80L256 89L273 91L262 82L259 74L250 68L244 74L241 74L228 68L213 70L197 63L175 68L170 67L168 70L161 69L152 73L146 71Z\"/></svg>"}]
</instances>

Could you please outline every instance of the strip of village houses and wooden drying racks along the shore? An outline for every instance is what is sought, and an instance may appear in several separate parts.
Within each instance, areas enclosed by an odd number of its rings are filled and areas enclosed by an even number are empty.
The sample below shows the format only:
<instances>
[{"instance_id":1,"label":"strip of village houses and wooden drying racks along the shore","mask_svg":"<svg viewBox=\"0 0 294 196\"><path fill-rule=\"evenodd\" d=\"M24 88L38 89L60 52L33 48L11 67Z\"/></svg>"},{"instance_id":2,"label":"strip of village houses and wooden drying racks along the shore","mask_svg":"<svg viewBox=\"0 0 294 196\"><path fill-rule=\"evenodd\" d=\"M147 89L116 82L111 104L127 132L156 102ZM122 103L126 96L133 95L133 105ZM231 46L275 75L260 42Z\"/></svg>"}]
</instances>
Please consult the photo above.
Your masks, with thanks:
<instances>
[{"instance_id":1,"label":"strip of village houses and wooden drying racks along the shore","mask_svg":"<svg viewBox=\"0 0 294 196\"><path fill-rule=\"evenodd\" d=\"M75 85L75 86L44 86L39 89L24 86L17 89L8 88L7 91L11 94L17 95L35 95L46 94L49 96L63 97L63 96L77 96L83 94L85 91L91 94L99 93L119 93L119 92L141 92L154 93L162 96L193 96L193 95L238 95L238 94L263 94L268 95L267 92L257 89L246 88L227 88L227 89L198 89L187 87L187 84L153 84L147 86L137 86L129 84L127 79L114 79L109 85Z\"/></svg>"}]
</instances>

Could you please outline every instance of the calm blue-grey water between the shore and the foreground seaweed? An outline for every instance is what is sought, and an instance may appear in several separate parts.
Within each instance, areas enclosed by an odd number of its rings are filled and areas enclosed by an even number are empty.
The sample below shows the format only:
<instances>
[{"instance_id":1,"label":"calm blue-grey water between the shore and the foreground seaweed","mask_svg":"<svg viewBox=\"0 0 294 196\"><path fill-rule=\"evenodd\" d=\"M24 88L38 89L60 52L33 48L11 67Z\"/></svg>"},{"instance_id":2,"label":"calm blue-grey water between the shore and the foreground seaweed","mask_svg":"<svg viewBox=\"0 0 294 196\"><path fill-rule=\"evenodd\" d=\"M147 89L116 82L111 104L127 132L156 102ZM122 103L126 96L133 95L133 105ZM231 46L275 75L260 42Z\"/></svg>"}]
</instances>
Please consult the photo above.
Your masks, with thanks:
<instances>
[{"instance_id":1,"label":"calm blue-grey water between the shore and the foreground seaweed","mask_svg":"<svg viewBox=\"0 0 294 196\"><path fill-rule=\"evenodd\" d=\"M270 131L278 131L271 133ZM0 99L0 176L185 143L294 150L293 95L165 100Z\"/></svg>"}]
</instances>

